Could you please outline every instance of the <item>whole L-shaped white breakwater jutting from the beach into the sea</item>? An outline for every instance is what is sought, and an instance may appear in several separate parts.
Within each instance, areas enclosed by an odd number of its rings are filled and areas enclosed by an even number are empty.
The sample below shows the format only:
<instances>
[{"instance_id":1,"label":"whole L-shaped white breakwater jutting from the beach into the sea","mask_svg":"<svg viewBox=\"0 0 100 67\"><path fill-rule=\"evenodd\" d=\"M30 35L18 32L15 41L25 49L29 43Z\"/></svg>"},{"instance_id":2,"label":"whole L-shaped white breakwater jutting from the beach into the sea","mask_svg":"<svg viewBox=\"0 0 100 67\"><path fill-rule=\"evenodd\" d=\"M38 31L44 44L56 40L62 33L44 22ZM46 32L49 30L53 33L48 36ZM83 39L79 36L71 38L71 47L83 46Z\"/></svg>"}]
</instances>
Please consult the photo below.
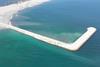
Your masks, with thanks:
<instances>
[{"instance_id":1,"label":"whole L-shaped white breakwater jutting from the beach into the sea","mask_svg":"<svg viewBox=\"0 0 100 67\"><path fill-rule=\"evenodd\" d=\"M71 51L79 50L79 48L96 32L96 28L89 27L88 30L79 39L77 39L72 44L68 44L68 43L64 43L64 42L61 42L61 41L58 41L58 40L55 40L55 39L52 39L52 38L49 38L43 35L39 35L39 34L30 32L30 31L24 30L24 29L20 29L12 25L9 25L9 28L17 32L23 33L25 35L31 36L33 38L36 38L38 40L44 41L46 43L56 45L56 46L59 46L59 47L62 47L64 49L68 49Z\"/></svg>"}]
</instances>

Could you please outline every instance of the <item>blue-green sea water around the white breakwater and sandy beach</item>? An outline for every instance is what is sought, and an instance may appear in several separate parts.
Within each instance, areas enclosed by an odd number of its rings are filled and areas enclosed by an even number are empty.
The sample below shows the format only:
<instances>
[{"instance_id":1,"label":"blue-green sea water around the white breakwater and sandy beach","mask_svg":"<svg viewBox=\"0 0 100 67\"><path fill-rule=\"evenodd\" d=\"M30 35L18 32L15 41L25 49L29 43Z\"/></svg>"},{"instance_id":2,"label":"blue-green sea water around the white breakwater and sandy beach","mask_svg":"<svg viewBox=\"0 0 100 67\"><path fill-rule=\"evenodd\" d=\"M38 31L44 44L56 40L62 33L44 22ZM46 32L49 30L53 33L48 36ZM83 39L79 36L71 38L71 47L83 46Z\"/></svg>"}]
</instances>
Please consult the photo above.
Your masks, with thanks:
<instances>
[{"instance_id":1,"label":"blue-green sea water around the white breakwater and sandy beach","mask_svg":"<svg viewBox=\"0 0 100 67\"><path fill-rule=\"evenodd\" d=\"M0 6L18 0L0 0ZM0 67L100 67L100 0L51 0L19 11L12 25L73 43L88 27L97 32L73 52L11 29L0 29Z\"/></svg>"}]
</instances>

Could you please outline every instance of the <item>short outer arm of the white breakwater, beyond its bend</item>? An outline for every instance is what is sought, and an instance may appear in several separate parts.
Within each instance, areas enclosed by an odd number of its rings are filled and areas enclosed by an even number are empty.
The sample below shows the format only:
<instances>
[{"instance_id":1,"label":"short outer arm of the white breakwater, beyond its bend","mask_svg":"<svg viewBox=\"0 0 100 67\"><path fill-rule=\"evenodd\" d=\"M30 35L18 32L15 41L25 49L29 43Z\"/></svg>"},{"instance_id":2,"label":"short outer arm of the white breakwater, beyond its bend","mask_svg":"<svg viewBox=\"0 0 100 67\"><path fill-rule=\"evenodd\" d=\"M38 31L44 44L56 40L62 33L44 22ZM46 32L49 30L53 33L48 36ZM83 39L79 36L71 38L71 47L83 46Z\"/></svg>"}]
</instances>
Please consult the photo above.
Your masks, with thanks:
<instances>
[{"instance_id":1,"label":"short outer arm of the white breakwater, beyond its bend","mask_svg":"<svg viewBox=\"0 0 100 67\"><path fill-rule=\"evenodd\" d=\"M87 31L72 44L73 50L79 50L79 48L82 47L95 32L96 28L88 27Z\"/></svg>"}]
</instances>

